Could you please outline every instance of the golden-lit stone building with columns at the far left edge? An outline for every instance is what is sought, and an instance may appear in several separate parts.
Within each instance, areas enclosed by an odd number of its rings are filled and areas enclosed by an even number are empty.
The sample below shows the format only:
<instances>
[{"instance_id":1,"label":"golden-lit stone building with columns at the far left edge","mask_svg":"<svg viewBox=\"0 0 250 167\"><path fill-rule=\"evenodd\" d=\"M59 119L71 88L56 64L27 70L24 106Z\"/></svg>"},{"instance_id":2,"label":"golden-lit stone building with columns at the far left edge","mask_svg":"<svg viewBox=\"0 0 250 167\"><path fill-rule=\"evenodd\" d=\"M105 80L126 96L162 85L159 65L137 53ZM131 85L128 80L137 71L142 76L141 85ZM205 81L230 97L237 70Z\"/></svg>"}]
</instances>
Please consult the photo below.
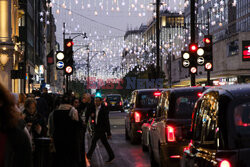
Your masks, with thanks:
<instances>
[{"instance_id":1,"label":"golden-lit stone building with columns at the far left edge","mask_svg":"<svg viewBox=\"0 0 250 167\"><path fill-rule=\"evenodd\" d=\"M18 69L24 55L18 41L23 15L18 0L0 0L0 83L13 92L19 92L21 85L20 80L11 79L11 70Z\"/></svg>"}]
</instances>

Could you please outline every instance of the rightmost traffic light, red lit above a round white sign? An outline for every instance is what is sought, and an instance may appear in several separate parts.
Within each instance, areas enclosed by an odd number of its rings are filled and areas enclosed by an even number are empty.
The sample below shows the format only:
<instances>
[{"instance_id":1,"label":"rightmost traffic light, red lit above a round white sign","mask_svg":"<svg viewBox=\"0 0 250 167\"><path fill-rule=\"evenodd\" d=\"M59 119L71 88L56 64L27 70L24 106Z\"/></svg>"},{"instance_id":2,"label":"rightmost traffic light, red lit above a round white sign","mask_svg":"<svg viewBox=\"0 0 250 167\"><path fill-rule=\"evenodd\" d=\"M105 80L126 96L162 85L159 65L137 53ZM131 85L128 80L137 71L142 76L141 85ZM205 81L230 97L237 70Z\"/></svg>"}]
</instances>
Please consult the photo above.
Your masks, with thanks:
<instances>
[{"instance_id":1,"label":"rightmost traffic light, red lit above a round white sign","mask_svg":"<svg viewBox=\"0 0 250 167\"><path fill-rule=\"evenodd\" d=\"M205 71L213 71L213 41L212 35L205 35L204 39Z\"/></svg>"}]
</instances>

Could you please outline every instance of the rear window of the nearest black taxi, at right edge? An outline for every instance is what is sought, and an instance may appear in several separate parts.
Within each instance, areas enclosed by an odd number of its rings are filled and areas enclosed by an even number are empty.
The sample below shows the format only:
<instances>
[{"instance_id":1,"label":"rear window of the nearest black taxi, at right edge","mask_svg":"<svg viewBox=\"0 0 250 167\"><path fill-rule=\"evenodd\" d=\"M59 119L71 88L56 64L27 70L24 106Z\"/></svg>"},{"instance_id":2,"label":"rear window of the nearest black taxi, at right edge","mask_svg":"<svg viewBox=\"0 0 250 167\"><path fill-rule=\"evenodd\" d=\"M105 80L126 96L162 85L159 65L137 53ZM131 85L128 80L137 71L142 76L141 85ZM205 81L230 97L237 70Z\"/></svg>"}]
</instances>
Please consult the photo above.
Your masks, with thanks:
<instances>
[{"instance_id":1,"label":"rear window of the nearest black taxi, at right edge","mask_svg":"<svg viewBox=\"0 0 250 167\"><path fill-rule=\"evenodd\" d=\"M249 101L236 104L233 112L237 136L240 139L250 139L250 99Z\"/></svg>"}]
</instances>

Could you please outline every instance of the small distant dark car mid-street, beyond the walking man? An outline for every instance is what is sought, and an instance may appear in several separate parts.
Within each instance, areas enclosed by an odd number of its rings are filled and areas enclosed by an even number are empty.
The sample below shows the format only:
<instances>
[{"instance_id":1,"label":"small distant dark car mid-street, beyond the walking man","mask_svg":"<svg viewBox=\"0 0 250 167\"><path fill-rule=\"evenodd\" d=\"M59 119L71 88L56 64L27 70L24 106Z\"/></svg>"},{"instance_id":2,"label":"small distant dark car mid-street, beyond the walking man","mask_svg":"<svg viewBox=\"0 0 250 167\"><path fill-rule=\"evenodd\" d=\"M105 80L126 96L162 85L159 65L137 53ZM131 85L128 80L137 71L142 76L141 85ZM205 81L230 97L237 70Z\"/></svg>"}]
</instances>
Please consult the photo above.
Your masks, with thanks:
<instances>
[{"instance_id":1,"label":"small distant dark car mid-street, beyond the walking man","mask_svg":"<svg viewBox=\"0 0 250 167\"><path fill-rule=\"evenodd\" d=\"M109 111L124 112L122 96L119 94L108 94L105 98Z\"/></svg>"}]
</instances>

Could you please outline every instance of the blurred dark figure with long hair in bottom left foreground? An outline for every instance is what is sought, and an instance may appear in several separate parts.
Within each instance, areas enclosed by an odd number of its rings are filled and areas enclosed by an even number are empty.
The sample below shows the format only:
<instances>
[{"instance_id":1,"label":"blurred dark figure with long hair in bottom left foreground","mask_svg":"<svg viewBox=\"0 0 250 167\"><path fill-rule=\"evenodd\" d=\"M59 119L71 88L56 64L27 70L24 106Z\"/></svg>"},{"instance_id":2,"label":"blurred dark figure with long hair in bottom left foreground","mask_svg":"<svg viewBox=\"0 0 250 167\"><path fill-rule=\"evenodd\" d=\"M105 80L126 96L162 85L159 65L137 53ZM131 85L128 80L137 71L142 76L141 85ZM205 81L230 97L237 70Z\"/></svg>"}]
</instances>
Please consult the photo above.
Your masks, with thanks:
<instances>
[{"instance_id":1,"label":"blurred dark figure with long hair in bottom left foreground","mask_svg":"<svg viewBox=\"0 0 250 167\"><path fill-rule=\"evenodd\" d=\"M30 141L19 128L20 113L14 97L0 84L0 166L32 166Z\"/></svg>"}]
</instances>

